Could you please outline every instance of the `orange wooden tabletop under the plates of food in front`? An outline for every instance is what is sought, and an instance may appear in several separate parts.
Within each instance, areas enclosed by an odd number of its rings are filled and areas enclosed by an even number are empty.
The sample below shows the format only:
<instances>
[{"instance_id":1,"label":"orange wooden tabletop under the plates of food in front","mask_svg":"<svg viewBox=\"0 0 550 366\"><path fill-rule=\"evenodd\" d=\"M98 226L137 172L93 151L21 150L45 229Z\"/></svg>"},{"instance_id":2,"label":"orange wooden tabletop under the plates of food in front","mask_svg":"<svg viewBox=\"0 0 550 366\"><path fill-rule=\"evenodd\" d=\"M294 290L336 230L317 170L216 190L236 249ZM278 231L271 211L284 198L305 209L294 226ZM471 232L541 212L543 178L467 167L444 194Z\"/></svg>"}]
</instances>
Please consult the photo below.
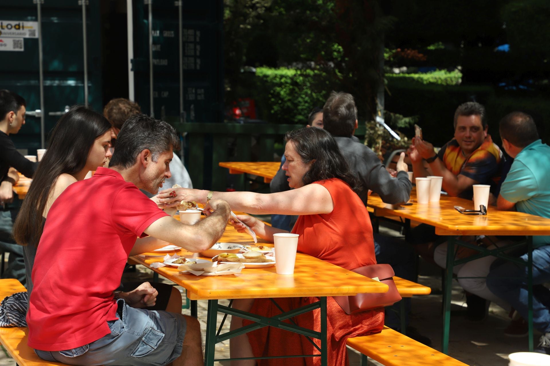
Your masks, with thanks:
<instances>
[{"instance_id":1,"label":"orange wooden tabletop under the plates of food in front","mask_svg":"<svg viewBox=\"0 0 550 366\"><path fill-rule=\"evenodd\" d=\"M250 235L238 233L232 226L219 240L224 243L253 243ZM260 240L259 242L265 243ZM187 251L177 252L186 256ZM149 267L152 262L162 262L161 257L131 257ZM150 253L149 255L158 255ZM210 260L210 258L204 258ZM386 292L388 286L360 274L309 255L298 253L293 275L281 275L275 267L243 268L240 275L196 276L179 274L175 267L161 267L153 271L188 290L191 300L253 299L270 297L337 296L368 292Z\"/></svg>"}]
</instances>

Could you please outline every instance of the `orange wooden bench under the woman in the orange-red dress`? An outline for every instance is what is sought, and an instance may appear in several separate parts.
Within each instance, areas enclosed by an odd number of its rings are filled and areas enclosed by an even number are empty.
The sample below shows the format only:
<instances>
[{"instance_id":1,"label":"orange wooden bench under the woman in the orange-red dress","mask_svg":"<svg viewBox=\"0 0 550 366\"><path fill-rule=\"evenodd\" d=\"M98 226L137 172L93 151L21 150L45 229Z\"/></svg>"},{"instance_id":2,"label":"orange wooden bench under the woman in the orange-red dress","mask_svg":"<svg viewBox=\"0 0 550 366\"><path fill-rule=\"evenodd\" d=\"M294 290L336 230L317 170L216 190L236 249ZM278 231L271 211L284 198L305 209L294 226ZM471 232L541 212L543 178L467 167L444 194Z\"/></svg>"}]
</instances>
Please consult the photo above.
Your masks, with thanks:
<instances>
[{"instance_id":1,"label":"orange wooden bench under the woman in the orange-red dress","mask_svg":"<svg viewBox=\"0 0 550 366\"><path fill-rule=\"evenodd\" d=\"M346 345L361 352L361 366L368 357L386 366L467 366L386 326L378 334L348 338Z\"/></svg>"}]
</instances>

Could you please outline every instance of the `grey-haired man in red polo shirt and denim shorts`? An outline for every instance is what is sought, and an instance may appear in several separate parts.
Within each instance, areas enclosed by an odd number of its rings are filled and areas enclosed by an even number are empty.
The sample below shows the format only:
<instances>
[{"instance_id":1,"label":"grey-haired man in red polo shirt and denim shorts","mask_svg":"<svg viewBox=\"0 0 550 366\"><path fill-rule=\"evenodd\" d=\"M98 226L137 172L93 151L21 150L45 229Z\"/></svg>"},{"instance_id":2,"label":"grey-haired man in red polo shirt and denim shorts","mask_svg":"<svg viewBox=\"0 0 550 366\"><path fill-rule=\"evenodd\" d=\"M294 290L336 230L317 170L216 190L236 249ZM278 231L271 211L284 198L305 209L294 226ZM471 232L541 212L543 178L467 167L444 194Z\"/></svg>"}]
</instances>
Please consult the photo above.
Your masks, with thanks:
<instances>
[{"instance_id":1,"label":"grey-haired man in red polo shirt and denim shorts","mask_svg":"<svg viewBox=\"0 0 550 366\"><path fill-rule=\"evenodd\" d=\"M211 200L212 214L183 224L157 207L156 194L171 176L174 128L146 115L124 123L111 168L70 185L48 212L32 269L34 289L27 323L29 346L43 359L72 365L201 365L199 322L166 311L148 283L115 294L128 256L158 249L150 235L199 252L221 237L226 201Z\"/></svg>"}]
</instances>

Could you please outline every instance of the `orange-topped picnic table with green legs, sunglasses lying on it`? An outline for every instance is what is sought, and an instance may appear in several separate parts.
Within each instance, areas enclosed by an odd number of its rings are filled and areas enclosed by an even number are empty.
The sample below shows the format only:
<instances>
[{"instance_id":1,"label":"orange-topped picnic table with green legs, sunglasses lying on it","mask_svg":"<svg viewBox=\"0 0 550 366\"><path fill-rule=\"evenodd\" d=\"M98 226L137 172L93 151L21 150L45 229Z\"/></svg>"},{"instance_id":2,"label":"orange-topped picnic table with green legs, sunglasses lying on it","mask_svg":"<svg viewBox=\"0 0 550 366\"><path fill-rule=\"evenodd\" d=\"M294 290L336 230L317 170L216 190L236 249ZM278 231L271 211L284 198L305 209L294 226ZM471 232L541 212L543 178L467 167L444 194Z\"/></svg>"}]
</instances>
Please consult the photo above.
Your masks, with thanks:
<instances>
[{"instance_id":1,"label":"orange-topped picnic table with green legs, sunglasses lying on it","mask_svg":"<svg viewBox=\"0 0 550 366\"><path fill-rule=\"evenodd\" d=\"M516 211L498 211L497 207L489 206L487 215L464 215L454 209L461 206L472 209L474 202L456 197L441 195L439 202L419 204L416 200L416 190L411 192L410 206L392 206L382 202L379 196L371 195L367 206L372 207L375 216L398 216L420 223L431 225L437 235L445 235L447 240L447 266L445 268L445 291L443 293L443 339L442 351L448 352L450 326L450 300L453 280L453 267L485 256L496 256L527 266L529 289L529 348L533 350L532 322L532 236L550 235L550 219ZM527 237L527 261L505 254L511 246L501 246L497 249L486 249L460 240L461 235L525 235ZM468 258L455 260L455 245L465 246L478 252Z\"/></svg>"}]
</instances>

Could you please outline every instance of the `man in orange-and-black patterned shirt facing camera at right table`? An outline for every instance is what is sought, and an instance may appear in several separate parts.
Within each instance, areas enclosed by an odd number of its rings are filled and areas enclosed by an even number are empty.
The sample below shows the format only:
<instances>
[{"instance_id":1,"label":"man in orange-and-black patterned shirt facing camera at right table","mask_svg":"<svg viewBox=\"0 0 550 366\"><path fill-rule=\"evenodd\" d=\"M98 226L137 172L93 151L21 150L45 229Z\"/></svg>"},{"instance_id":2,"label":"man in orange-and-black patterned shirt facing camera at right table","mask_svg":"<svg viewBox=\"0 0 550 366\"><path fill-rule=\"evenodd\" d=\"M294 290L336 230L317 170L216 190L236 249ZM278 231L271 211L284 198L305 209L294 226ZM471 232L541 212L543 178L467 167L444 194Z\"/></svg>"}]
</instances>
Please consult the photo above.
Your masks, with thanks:
<instances>
[{"instance_id":1,"label":"man in orange-and-black patterned shirt facing camera at right table","mask_svg":"<svg viewBox=\"0 0 550 366\"><path fill-rule=\"evenodd\" d=\"M496 194L502 153L493 143L487 129L483 105L476 102L459 105L454 113L454 138L445 144L438 154L431 143L420 138L412 139L408 153L414 176L416 178L431 175L443 177L442 188L449 196L472 199L474 184L491 185L491 192ZM428 163L429 171L425 168L423 160ZM496 198L492 195L489 198L489 204L494 202ZM438 258L446 256L446 245L441 245L436 250L436 247L443 244L445 239L435 234L433 226L425 224L417 226L408 239L409 243L415 246L415 250L431 263L434 263L434 251ZM458 253L459 257L467 255L467 253ZM441 263L439 260L437 262ZM461 283L461 285L467 291L468 319L484 319L488 308L486 300L476 296L475 284ZM476 292L476 295L472 295L472 292Z\"/></svg>"}]
</instances>

